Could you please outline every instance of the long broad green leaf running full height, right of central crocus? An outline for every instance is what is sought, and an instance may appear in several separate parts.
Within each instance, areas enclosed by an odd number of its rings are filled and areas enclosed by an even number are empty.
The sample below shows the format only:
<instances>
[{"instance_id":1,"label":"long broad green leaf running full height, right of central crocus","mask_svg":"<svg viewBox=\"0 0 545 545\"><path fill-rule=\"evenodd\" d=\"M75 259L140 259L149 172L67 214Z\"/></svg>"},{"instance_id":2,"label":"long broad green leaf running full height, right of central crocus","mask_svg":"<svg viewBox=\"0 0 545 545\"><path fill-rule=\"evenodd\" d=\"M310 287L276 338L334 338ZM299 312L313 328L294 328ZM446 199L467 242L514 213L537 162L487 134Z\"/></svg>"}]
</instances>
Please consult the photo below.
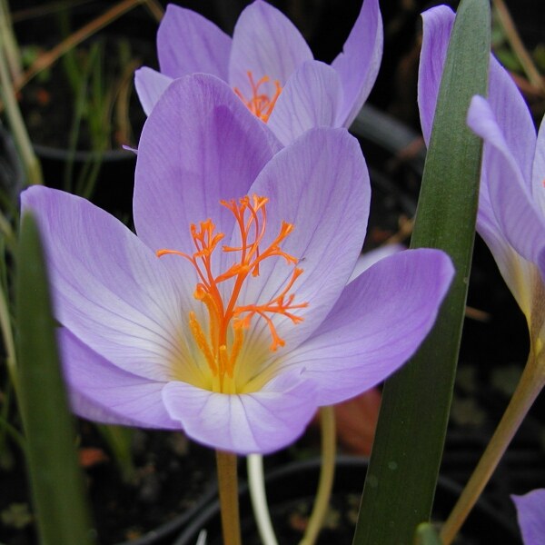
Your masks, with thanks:
<instances>
[{"instance_id":1,"label":"long broad green leaf running full height, right of central crocus","mask_svg":"<svg viewBox=\"0 0 545 545\"><path fill-rule=\"evenodd\" d=\"M385 385L354 538L359 545L409 545L418 524L430 519L460 347L479 190L481 143L467 127L466 115L471 96L486 94L489 58L489 2L462 0L411 240L411 247L449 253L456 276L433 331Z\"/></svg>"}]
</instances>

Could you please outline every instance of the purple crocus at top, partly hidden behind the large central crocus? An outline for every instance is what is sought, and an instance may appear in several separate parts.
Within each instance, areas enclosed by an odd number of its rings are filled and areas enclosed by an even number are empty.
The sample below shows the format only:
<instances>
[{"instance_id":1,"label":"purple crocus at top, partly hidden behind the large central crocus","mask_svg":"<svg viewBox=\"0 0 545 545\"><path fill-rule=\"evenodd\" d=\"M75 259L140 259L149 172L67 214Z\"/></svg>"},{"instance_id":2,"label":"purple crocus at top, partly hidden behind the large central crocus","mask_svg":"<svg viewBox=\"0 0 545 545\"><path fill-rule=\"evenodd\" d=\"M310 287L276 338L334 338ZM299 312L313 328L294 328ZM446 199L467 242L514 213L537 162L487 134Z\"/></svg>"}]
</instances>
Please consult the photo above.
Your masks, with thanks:
<instances>
[{"instance_id":1,"label":"purple crocus at top, partly hidden behind the large central crocus","mask_svg":"<svg viewBox=\"0 0 545 545\"><path fill-rule=\"evenodd\" d=\"M174 78L213 74L227 82L282 144L315 126L348 127L371 92L381 63L378 0L365 0L331 66L313 60L292 22L255 0L240 15L233 38L189 9L168 5L157 35L161 73L136 72L136 90L149 114Z\"/></svg>"}]
</instances>

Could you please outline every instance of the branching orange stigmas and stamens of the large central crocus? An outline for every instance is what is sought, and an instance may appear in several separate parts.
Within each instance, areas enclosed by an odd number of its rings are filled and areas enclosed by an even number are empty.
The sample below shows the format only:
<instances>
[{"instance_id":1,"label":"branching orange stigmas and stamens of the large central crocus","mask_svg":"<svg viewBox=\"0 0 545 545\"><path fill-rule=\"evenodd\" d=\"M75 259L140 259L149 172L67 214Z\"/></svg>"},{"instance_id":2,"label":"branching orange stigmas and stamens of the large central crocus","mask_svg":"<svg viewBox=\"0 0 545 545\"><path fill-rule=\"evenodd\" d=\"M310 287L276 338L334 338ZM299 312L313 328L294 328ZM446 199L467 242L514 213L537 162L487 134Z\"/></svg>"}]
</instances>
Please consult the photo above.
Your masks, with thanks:
<instances>
[{"instance_id":1,"label":"branching orange stigmas and stamens of the large central crocus","mask_svg":"<svg viewBox=\"0 0 545 545\"><path fill-rule=\"evenodd\" d=\"M254 316L262 318L271 333L270 350L275 352L285 342L279 336L272 317L281 314L292 323L302 322L303 318L292 311L308 306L308 302L294 303L295 295L289 294L293 283L302 274L302 269L293 268L292 276L282 291L266 302L239 304L239 296L246 282L259 276L260 265L271 257L282 257L286 263L296 265L298 259L282 251L280 244L293 231L293 224L282 222L280 233L265 249L260 247L266 231L267 213L266 197L253 195L244 196L238 203L221 201L235 219L235 225L240 232L240 246L223 245L225 253L238 253L235 263L226 271L214 275L212 256L224 233L216 233L211 219L197 226L192 223L191 235L195 246L192 254L176 250L162 249L156 252L158 257L166 254L176 254L193 264L199 282L197 282L194 298L203 303L208 313L208 327L196 317L195 312L189 312L189 325L199 350L213 375L213 391L233 393L235 391L234 371L236 360L243 348L244 330L251 325ZM229 289L220 288L220 284L231 280Z\"/></svg>"}]
</instances>

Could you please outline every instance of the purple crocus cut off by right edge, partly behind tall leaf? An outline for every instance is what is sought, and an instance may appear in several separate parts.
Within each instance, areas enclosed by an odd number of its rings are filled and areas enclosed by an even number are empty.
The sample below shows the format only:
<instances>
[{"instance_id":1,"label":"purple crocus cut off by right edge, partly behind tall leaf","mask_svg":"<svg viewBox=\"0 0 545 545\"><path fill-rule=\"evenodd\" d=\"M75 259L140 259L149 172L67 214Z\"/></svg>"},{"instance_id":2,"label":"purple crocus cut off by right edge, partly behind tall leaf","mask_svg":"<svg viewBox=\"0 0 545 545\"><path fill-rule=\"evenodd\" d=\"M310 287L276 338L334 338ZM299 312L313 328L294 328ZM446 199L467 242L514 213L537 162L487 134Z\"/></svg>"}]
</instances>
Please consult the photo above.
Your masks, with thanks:
<instances>
[{"instance_id":1,"label":"purple crocus cut off by right edge, partly behind tall leaf","mask_svg":"<svg viewBox=\"0 0 545 545\"><path fill-rule=\"evenodd\" d=\"M419 107L429 141L454 14L440 6L423 19ZM477 229L526 316L537 355L545 341L545 124L536 135L528 106L493 56L488 95L473 97L468 114L484 140Z\"/></svg>"}]
</instances>

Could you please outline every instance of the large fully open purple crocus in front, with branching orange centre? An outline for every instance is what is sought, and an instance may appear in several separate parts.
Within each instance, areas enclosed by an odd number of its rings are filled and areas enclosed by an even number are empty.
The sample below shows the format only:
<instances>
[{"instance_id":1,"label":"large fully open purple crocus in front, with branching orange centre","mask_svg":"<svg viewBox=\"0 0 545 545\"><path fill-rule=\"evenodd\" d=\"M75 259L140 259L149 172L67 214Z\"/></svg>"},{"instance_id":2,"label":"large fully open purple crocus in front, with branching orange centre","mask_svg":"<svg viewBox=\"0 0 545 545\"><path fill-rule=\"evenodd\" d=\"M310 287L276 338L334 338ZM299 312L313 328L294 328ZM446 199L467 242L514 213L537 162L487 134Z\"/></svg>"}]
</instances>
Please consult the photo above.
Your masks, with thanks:
<instances>
[{"instance_id":1,"label":"large fully open purple crocus in front, with branching orange centre","mask_svg":"<svg viewBox=\"0 0 545 545\"><path fill-rule=\"evenodd\" d=\"M357 141L315 128L282 148L206 74L173 82L144 125L137 236L69 193L22 201L45 239L74 410L225 451L280 449L318 406L399 368L452 276L423 249L351 279L370 203Z\"/></svg>"}]
</instances>

